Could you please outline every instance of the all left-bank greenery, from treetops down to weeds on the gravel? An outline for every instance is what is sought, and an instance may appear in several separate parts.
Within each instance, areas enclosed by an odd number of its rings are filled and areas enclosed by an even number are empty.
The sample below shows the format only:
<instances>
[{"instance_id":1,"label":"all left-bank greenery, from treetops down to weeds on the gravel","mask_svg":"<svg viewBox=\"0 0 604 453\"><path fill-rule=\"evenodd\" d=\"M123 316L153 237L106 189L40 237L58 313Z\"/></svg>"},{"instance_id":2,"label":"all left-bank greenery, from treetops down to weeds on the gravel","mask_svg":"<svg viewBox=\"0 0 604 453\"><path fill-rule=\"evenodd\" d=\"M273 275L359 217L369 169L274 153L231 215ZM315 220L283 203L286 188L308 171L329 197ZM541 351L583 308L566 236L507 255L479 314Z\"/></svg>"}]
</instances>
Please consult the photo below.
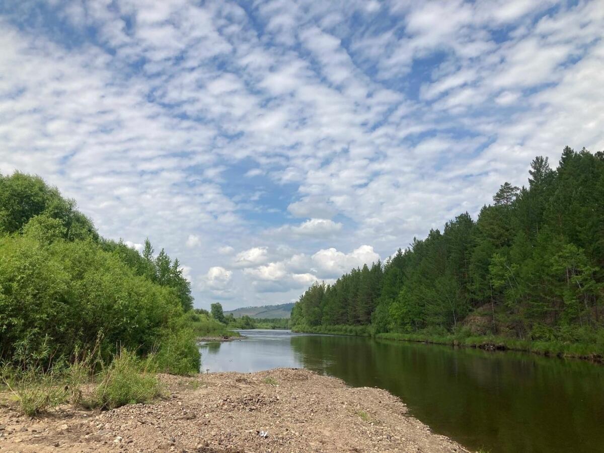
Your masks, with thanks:
<instances>
[{"instance_id":1,"label":"all left-bank greenery, from treetops down to weeds on the gravel","mask_svg":"<svg viewBox=\"0 0 604 453\"><path fill-rule=\"evenodd\" d=\"M103 389L95 404L110 407L156 394L153 373L198 372L178 259L149 240L141 254L100 237L37 176L0 175L0 258L0 377L26 413L85 381Z\"/></svg>"}]
</instances>

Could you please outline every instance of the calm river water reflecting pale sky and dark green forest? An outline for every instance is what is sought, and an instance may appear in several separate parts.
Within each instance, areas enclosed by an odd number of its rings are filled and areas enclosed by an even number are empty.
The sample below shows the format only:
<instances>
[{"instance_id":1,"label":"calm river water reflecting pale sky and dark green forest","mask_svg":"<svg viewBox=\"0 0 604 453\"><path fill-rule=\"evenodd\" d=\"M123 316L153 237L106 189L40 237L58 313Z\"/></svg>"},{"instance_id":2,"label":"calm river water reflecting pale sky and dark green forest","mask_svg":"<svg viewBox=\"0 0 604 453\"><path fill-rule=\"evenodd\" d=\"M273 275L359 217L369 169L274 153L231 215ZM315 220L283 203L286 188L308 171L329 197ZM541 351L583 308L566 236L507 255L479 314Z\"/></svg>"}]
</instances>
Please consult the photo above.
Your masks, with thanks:
<instances>
[{"instance_id":1,"label":"calm river water reflecting pale sky and dark green forest","mask_svg":"<svg viewBox=\"0 0 604 453\"><path fill-rule=\"evenodd\" d=\"M347 336L242 331L201 346L203 368L304 367L399 396L433 431L469 449L604 452L604 366Z\"/></svg>"}]
</instances>

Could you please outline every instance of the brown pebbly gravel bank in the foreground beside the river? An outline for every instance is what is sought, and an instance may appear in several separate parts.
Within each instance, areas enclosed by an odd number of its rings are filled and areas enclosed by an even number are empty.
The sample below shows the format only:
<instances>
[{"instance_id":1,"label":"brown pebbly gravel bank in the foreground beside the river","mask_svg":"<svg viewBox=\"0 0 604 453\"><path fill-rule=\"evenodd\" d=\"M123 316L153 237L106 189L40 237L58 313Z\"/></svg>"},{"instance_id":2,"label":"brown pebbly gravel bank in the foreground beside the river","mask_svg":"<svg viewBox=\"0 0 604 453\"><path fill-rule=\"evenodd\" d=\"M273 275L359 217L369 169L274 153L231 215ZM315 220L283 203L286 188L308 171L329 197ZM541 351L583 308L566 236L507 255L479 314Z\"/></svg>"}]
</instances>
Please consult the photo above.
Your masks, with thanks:
<instances>
[{"instance_id":1,"label":"brown pebbly gravel bank in the foreground beside the river","mask_svg":"<svg viewBox=\"0 0 604 453\"><path fill-rule=\"evenodd\" d=\"M111 411L0 406L0 452L466 452L387 391L312 371L161 379L164 399Z\"/></svg>"}]
</instances>

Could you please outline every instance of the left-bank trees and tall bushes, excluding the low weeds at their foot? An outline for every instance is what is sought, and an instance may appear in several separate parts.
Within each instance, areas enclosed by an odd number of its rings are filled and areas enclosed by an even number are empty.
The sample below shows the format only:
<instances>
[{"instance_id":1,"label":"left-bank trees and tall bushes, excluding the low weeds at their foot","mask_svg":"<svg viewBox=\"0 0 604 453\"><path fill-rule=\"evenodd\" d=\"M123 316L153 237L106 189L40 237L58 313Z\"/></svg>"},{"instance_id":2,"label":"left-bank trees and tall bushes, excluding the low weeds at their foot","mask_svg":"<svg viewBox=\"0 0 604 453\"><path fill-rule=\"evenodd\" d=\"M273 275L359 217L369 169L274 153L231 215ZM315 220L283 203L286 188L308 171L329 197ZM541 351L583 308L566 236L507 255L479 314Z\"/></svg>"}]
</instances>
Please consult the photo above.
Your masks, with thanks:
<instances>
[{"instance_id":1,"label":"left-bank trees and tall bushes, excluding the low weeds at their foot","mask_svg":"<svg viewBox=\"0 0 604 453\"><path fill-rule=\"evenodd\" d=\"M154 353L159 368L199 369L178 260L100 237L57 188L0 175L0 361L69 361L95 349Z\"/></svg>"}]
</instances>

